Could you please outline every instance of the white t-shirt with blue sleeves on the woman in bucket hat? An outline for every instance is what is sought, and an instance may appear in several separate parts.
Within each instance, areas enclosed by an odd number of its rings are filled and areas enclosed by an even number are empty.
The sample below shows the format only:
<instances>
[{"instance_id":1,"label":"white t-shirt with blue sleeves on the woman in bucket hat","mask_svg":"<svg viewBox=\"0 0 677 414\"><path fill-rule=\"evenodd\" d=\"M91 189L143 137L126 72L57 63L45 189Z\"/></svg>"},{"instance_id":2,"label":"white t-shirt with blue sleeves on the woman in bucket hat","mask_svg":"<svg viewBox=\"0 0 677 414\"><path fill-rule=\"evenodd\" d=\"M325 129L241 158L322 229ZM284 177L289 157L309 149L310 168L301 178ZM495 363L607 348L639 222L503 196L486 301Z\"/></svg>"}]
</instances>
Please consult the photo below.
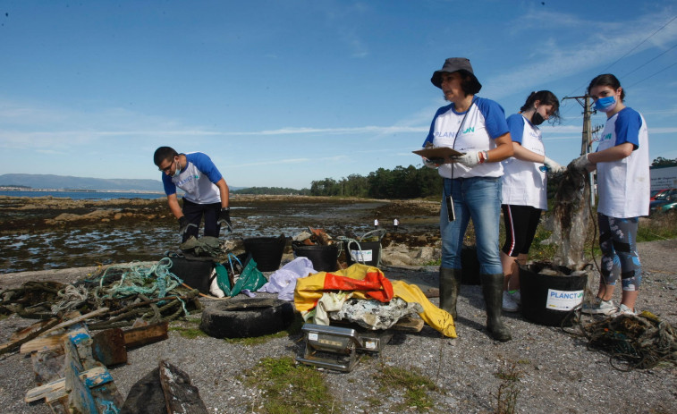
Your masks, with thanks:
<instances>
[{"instance_id":1,"label":"white t-shirt with blue sleeves on the woman in bucket hat","mask_svg":"<svg viewBox=\"0 0 677 414\"><path fill-rule=\"evenodd\" d=\"M423 147L432 142L435 147L453 148L462 153L488 151L496 148L495 139L508 131L503 107L491 99L475 97L464 113L457 113L453 104L439 108ZM444 164L438 172L445 178L500 177L503 165L485 163L468 168L459 163Z\"/></svg>"}]
</instances>

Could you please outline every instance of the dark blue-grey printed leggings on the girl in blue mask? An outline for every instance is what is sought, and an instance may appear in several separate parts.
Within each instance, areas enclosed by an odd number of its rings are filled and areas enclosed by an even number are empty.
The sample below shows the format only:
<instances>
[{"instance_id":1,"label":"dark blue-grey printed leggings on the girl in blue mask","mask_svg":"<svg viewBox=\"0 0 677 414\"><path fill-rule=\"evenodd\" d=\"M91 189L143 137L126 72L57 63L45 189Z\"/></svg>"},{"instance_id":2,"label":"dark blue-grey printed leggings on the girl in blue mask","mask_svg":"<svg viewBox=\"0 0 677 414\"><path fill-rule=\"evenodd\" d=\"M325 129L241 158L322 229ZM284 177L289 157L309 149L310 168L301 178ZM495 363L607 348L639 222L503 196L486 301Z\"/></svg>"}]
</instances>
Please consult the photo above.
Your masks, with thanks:
<instances>
[{"instance_id":1,"label":"dark blue-grey printed leggings on the girl in blue mask","mask_svg":"<svg viewBox=\"0 0 677 414\"><path fill-rule=\"evenodd\" d=\"M597 213L597 223L604 282L614 285L621 275L623 291L639 290L642 269L637 254L638 217L617 218Z\"/></svg>"}]
</instances>

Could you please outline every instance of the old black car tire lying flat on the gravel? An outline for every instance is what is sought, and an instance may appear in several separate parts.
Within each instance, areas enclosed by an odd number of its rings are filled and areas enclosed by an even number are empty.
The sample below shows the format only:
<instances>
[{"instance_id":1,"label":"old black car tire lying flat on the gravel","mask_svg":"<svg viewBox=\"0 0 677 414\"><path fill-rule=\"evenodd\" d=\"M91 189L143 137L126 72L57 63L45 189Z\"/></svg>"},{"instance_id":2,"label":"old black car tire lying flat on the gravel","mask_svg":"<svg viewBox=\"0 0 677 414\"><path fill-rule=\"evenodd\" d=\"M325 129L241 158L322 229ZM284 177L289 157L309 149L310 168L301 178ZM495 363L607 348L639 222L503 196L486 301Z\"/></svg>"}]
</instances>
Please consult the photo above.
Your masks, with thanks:
<instances>
[{"instance_id":1,"label":"old black car tire lying flat on the gravel","mask_svg":"<svg viewBox=\"0 0 677 414\"><path fill-rule=\"evenodd\" d=\"M202 311L199 328L215 338L248 338L275 334L292 324L290 302L273 298L223 300Z\"/></svg>"}]
</instances>

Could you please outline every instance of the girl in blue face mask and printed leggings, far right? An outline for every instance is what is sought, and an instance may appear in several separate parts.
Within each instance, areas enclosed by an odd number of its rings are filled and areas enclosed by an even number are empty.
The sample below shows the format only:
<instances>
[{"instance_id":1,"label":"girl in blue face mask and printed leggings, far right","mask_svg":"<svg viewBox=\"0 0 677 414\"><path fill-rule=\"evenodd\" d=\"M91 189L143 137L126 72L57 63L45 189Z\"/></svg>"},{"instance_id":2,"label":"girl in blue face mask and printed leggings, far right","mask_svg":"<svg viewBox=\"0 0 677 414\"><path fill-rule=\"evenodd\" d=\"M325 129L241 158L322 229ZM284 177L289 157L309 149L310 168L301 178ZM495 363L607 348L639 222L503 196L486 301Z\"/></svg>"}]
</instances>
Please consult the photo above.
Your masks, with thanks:
<instances>
[{"instance_id":1,"label":"girl in blue face mask and printed leggings, far right","mask_svg":"<svg viewBox=\"0 0 677 414\"><path fill-rule=\"evenodd\" d=\"M595 109L606 113L605 129L597 151L576 159L573 166L597 168L597 223L602 250L599 290L583 312L593 314L635 313L641 283L637 253L639 215L648 215L650 177L647 122L639 112L625 106L625 91L612 74L599 75L588 86ZM612 296L621 276L619 308Z\"/></svg>"}]
</instances>

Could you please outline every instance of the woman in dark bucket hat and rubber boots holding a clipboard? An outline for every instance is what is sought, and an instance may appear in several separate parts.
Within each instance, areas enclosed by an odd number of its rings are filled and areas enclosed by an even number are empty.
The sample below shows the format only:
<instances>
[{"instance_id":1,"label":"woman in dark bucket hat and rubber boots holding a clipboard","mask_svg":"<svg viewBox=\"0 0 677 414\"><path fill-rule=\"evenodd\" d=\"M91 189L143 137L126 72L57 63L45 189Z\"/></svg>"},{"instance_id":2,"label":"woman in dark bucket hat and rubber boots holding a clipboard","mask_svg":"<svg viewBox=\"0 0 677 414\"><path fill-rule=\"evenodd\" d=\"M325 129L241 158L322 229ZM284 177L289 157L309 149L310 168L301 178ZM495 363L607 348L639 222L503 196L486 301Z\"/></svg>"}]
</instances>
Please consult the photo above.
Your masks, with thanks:
<instances>
[{"instance_id":1,"label":"woman in dark bucket hat and rubber boots holding a clipboard","mask_svg":"<svg viewBox=\"0 0 677 414\"><path fill-rule=\"evenodd\" d=\"M451 102L439 108L423 147L453 148L461 156L427 160L444 179L440 212L442 264L440 308L456 318L461 288L461 249L472 219L475 228L482 292L487 304L487 330L498 341L510 341L501 319L504 274L498 249L501 216L501 161L512 156L512 140L504 109L475 95L482 88L470 60L451 57L430 81Z\"/></svg>"}]
</instances>

